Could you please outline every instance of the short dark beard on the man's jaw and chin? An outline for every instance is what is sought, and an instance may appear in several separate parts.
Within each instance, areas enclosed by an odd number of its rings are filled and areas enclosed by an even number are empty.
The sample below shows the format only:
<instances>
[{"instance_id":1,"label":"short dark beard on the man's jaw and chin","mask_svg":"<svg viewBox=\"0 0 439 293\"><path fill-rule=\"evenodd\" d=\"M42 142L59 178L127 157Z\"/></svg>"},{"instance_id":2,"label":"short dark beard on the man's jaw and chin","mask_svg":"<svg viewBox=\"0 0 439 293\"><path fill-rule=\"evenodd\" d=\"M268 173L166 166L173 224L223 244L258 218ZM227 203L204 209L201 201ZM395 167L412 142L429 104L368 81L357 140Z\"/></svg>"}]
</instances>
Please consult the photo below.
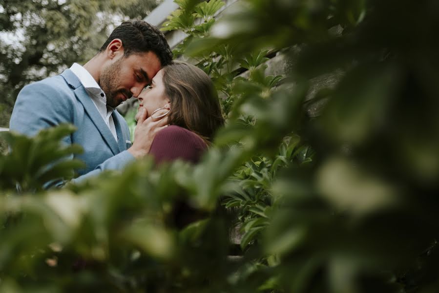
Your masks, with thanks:
<instances>
[{"instance_id":1,"label":"short dark beard on the man's jaw and chin","mask_svg":"<svg viewBox=\"0 0 439 293\"><path fill-rule=\"evenodd\" d=\"M118 75L120 72L122 59L123 58L105 67L99 80L99 85L106 95L106 104L112 108L115 108L122 103L120 99L116 98L118 94L124 93L128 99L131 97L131 93L129 91L119 88L120 79Z\"/></svg>"}]
</instances>

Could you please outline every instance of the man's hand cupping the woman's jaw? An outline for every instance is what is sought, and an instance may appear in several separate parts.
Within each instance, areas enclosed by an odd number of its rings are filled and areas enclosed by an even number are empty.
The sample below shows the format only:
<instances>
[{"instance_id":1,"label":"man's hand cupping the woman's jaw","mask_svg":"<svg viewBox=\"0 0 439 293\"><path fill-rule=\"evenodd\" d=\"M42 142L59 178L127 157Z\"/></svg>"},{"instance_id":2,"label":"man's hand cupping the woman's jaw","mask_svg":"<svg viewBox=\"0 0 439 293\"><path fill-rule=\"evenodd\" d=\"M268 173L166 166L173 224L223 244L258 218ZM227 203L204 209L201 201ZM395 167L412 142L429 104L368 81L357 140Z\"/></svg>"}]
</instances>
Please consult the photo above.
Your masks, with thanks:
<instances>
[{"instance_id":1,"label":"man's hand cupping the woman's jaw","mask_svg":"<svg viewBox=\"0 0 439 293\"><path fill-rule=\"evenodd\" d=\"M151 117L146 118L146 110L141 109L136 129L134 130L134 143L128 151L135 157L145 156L151 148L155 135L167 126L167 117L154 121Z\"/></svg>"}]
</instances>

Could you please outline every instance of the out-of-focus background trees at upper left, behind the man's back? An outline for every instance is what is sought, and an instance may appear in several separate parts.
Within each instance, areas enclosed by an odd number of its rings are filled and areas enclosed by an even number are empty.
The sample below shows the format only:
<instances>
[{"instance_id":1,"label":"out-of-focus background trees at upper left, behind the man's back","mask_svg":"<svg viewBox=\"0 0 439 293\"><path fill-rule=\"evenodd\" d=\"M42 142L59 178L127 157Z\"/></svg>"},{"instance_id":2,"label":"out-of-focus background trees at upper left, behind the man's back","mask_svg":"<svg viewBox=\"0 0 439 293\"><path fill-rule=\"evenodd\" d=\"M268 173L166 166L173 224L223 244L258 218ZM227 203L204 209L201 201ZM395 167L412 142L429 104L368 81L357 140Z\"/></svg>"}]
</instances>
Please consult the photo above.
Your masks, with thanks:
<instances>
[{"instance_id":1,"label":"out-of-focus background trees at upper left, behind the man's back","mask_svg":"<svg viewBox=\"0 0 439 293\"><path fill-rule=\"evenodd\" d=\"M158 0L0 1L0 127L8 127L21 88L85 63L111 30L143 19Z\"/></svg>"}]
</instances>

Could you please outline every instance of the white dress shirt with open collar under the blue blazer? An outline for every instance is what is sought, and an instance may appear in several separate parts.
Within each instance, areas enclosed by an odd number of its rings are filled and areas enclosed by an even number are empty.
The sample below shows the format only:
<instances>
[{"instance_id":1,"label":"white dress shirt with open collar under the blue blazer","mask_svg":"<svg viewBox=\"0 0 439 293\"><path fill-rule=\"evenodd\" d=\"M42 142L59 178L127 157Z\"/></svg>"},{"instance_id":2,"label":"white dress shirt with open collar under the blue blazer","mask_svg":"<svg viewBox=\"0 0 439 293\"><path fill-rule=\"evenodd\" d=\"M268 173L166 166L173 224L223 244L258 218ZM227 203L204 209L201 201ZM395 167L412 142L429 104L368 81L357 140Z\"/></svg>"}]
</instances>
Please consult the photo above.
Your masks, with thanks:
<instances>
[{"instance_id":1,"label":"white dress shirt with open collar under the blue blazer","mask_svg":"<svg viewBox=\"0 0 439 293\"><path fill-rule=\"evenodd\" d=\"M117 142L116 127L114 126L113 117L111 116L114 108L106 105L107 98L105 92L101 89L99 84L95 81L87 69L80 64L73 63L72 67L70 67L70 70L73 71L81 84L83 84L88 96L93 101L93 104L98 109L99 114L101 114L102 119L104 119L105 124L108 126L108 128L110 128L110 131Z\"/></svg>"}]
</instances>

